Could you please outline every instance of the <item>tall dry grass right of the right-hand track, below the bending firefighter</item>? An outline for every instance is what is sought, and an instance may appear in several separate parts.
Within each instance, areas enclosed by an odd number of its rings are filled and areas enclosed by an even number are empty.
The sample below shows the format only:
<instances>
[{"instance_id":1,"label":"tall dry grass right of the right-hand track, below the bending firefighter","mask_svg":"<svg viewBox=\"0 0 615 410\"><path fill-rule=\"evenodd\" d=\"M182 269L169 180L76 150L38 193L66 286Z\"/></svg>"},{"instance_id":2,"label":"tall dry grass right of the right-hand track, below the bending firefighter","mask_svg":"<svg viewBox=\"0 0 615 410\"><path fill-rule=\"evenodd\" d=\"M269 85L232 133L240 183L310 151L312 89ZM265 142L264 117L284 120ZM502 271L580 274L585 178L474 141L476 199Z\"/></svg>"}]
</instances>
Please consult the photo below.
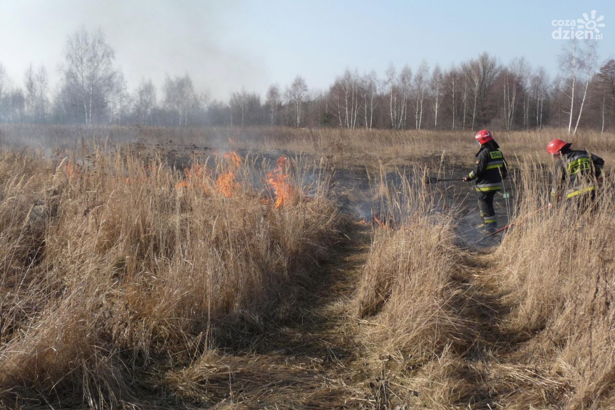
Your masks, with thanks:
<instances>
[{"instance_id":1,"label":"tall dry grass right of the right-hand track, below the bending firefighter","mask_svg":"<svg viewBox=\"0 0 615 410\"><path fill-rule=\"evenodd\" d=\"M522 175L520 216L546 205L544 196L533 194L546 188L541 168L528 160ZM509 407L609 408L615 400L612 175L596 210L579 213L572 205L539 211L510 232L493 255L498 268L486 279L507 291L512 307L502 328L527 334L519 360L546 369L557 381L549 388L528 388L522 400L511 396Z\"/></svg>"}]
</instances>

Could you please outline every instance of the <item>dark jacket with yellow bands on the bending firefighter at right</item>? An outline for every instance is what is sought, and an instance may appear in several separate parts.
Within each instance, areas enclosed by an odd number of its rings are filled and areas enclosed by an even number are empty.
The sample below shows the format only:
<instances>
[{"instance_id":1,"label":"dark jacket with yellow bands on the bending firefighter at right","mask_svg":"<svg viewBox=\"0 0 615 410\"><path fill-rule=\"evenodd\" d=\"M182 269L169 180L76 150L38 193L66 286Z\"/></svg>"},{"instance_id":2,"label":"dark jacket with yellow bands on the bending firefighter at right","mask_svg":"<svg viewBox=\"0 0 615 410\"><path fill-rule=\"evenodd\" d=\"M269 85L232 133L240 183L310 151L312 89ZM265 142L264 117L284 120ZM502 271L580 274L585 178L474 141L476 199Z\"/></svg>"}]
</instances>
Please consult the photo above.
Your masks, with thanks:
<instances>
[{"instance_id":1,"label":"dark jacket with yellow bands on the bending firefighter at right","mask_svg":"<svg viewBox=\"0 0 615 410\"><path fill-rule=\"evenodd\" d=\"M555 174L551 195L558 199L561 191L566 198L595 191L597 178L605 160L584 150L568 149L555 161Z\"/></svg>"}]
</instances>

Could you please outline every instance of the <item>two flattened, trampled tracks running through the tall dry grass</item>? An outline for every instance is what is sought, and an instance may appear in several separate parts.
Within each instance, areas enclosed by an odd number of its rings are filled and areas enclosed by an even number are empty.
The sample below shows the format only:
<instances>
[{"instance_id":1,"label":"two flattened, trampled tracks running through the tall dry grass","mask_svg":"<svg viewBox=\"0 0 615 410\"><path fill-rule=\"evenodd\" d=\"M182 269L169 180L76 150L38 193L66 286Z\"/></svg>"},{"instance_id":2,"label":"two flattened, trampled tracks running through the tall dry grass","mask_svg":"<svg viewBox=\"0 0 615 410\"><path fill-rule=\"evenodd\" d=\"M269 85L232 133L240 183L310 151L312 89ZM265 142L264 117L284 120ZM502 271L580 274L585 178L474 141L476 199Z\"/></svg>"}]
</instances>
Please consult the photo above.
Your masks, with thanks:
<instances>
[{"instance_id":1,"label":"two flattened, trampled tracks running through the tall dry grass","mask_svg":"<svg viewBox=\"0 0 615 410\"><path fill-rule=\"evenodd\" d=\"M451 404L496 409L505 408L502 399L523 384L546 382L515 355L528 335L501 331L499 321L509 307L502 302L504 295L485 281L490 263L489 251L483 251L467 254L454 277L459 292L451 303L477 337L456 360L442 364L448 366L453 403L438 403L436 395L421 387L410 399L400 398L395 387L401 380L410 380L404 386L408 389L411 380L425 386L431 375L423 369L389 373L387 358L382 363L366 360L370 352L357 337L364 324L352 312L351 298L369 247L370 228L355 224L288 307L291 313L284 321L263 321L244 339L237 337L226 349L207 353L210 371L202 385L186 390L181 404L216 409L402 410Z\"/></svg>"}]
</instances>

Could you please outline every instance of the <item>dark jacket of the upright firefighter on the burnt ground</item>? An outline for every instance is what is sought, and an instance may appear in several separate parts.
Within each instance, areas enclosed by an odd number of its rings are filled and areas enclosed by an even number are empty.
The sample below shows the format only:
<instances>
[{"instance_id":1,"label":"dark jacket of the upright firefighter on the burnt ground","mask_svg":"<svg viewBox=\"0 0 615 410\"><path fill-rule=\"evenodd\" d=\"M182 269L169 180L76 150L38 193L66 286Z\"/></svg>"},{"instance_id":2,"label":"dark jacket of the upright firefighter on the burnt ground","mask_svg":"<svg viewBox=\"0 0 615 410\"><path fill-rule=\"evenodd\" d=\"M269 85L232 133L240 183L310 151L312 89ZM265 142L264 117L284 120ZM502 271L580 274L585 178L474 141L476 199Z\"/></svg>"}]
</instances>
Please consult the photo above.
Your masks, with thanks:
<instances>
[{"instance_id":1,"label":"dark jacket of the upright firefighter on the burnt ground","mask_svg":"<svg viewBox=\"0 0 615 410\"><path fill-rule=\"evenodd\" d=\"M502 179L506 178L507 174L506 160L498 143L489 141L478 150L474 171L470 172L468 178L476 181L478 192L493 192L502 188Z\"/></svg>"}]
</instances>

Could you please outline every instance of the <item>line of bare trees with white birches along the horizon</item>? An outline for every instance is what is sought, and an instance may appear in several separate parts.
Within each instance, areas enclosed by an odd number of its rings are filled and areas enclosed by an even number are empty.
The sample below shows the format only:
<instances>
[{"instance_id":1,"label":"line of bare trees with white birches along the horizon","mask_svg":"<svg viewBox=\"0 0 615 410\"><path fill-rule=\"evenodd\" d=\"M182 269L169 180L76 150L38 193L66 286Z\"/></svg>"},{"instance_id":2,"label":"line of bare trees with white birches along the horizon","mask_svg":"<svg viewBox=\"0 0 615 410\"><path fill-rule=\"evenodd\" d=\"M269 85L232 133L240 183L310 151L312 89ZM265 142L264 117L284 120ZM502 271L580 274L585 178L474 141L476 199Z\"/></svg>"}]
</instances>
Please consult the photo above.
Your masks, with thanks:
<instances>
[{"instance_id":1,"label":"line of bare trees with white birches along the horizon","mask_svg":"<svg viewBox=\"0 0 615 410\"><path fill-rule=\"evenodd\" d=\"M245 89L210 100L188 74L162 90L143 80L130 92L114 51L98 30L68 37L61 81L49 89L46 68L26 69L14 85L0 64L0 122L54 124L286 125L292 127L512 129L615 126L615 60L598 62L596 41L566 41L550 77L525 58L507 64L482 53L448 69L389 66L384 77L346 69L327 90L297 76L271 85L264 100ZM161 91L161 95L159 95Z\"/></svg>"}]
</instances>

